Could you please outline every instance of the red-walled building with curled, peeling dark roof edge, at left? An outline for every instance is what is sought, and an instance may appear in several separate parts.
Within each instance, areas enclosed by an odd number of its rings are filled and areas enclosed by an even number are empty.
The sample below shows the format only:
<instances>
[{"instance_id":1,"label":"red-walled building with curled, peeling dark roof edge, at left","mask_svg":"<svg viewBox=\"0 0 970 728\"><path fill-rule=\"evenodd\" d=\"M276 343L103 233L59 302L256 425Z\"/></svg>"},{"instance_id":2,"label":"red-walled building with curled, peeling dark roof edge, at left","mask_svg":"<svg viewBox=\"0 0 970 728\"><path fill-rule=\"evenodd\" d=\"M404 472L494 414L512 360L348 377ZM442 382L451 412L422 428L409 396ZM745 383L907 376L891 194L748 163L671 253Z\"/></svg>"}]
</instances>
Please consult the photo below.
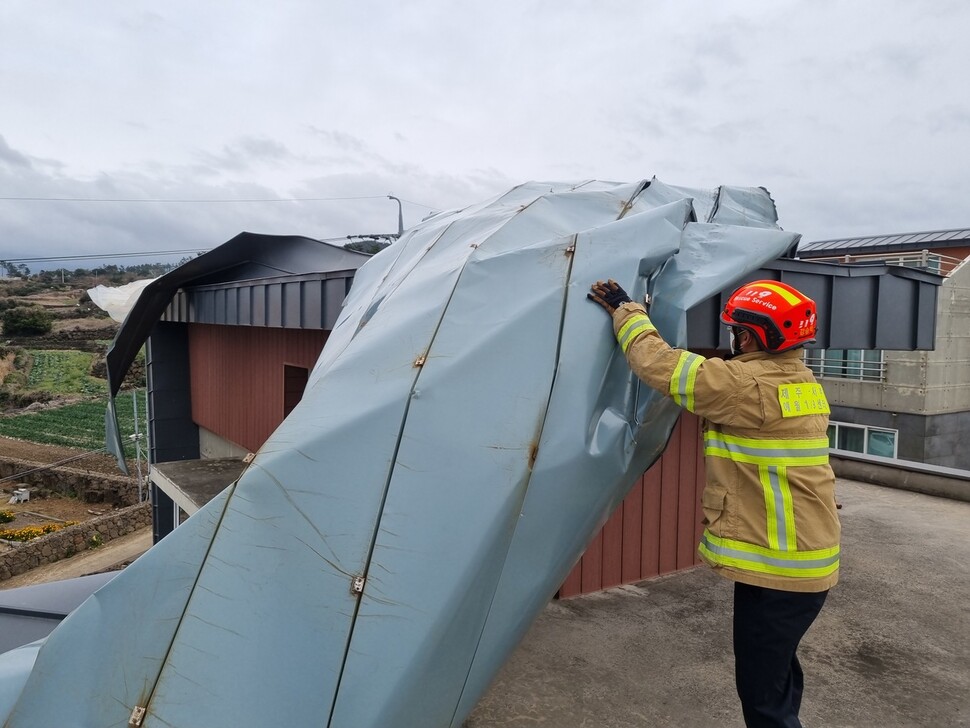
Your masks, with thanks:
<instances>
[{"instance_id":1,"label":"red-walled building with curled, peeling dark roof edge, at left","mask_svg":"<svg viewBox=\"0 0 970 728\"><path fill-rule=\"evenodd\" d=\"M241 233L145 288L107 361L117 391L145 343L156 541L234 481L296 406L369 257Z\"/></svg>"}]
</instances>

